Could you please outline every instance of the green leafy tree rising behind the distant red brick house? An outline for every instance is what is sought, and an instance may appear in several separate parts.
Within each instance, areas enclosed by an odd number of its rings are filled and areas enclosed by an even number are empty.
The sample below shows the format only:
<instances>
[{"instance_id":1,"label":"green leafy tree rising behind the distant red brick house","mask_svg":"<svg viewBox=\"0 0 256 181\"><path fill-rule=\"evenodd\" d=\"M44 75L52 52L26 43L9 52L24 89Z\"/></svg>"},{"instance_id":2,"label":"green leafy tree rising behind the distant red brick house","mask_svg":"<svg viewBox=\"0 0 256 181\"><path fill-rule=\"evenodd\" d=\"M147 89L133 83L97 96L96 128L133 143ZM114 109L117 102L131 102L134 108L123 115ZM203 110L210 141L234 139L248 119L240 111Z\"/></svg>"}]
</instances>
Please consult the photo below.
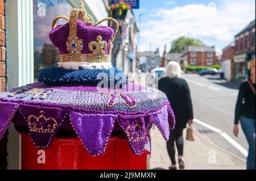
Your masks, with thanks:
<instances>
[{"instance_id":1,"label":"green leafy tree rising behind the distant red brick house","mask_svg":"<svg viewBox=\"0 0 256 181\"><path fill-rule=\"evenodd\" d=\"M184 52L186 45L204 46L205 44L201 40L181 36L176 40L172 41L171 50L169 51L169 53L182 53Z\"/></svg>"}]
</instances>

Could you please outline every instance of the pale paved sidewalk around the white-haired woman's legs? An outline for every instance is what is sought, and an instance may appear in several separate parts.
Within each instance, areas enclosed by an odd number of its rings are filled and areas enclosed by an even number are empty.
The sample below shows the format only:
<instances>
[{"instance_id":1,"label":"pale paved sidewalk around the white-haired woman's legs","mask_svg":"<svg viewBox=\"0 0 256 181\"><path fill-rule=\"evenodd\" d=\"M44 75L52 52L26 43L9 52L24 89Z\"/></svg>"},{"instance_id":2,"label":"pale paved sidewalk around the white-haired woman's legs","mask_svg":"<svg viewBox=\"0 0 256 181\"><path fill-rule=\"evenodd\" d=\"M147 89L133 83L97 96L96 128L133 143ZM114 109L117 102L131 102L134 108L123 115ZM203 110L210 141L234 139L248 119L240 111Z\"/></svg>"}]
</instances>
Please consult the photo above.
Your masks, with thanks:
<instances>
[{"instance_id":1,"label":"pale paved sidewalk around the white-haired woman's legs","mask_svg":"<svg viewBox=\"0 0 256 181\"><path fill-rule=\"evenodd\" d=\"M186 129L184 129L184 137ZM245 170L246 161L237 155L229 153L216 144L205 134L197 131L194 125L195 141L187 141L184 138L184 163L189 170ZM166 141L157 128L151 130L152 155L150 169L168 169L171 165L166 149ZM212 151L216 153L216 163L209 163L208 159ZM177 151L176 151L177 154ZM177 157L176 157L177 158ZM212 159L210 159L212 160Z\"/></svg>"}]
</instances>

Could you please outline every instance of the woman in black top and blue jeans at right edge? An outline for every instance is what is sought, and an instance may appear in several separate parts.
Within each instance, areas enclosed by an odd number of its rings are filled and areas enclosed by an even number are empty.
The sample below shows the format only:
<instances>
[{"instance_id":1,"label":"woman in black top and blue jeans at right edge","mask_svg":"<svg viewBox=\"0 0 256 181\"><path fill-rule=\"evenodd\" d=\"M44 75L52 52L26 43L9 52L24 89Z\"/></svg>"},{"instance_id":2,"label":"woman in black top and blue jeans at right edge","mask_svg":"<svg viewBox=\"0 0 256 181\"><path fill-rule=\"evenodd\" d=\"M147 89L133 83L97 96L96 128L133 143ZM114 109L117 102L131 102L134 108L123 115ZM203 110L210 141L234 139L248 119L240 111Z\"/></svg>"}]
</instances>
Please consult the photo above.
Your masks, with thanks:
<instances>
[{"instance_id":1,"label":"woman in black top and blue jeans at right edge","mask_svg":"<svg viewBox=\"0 0 256 181\"><path fill-rule=\"evenodd\" d=\"M235 136L238 136L239 121L249 144L247 170L255 170L255 58L250 61L249 79L240 86L234 120Z\"/></svg>"}]
</instances>

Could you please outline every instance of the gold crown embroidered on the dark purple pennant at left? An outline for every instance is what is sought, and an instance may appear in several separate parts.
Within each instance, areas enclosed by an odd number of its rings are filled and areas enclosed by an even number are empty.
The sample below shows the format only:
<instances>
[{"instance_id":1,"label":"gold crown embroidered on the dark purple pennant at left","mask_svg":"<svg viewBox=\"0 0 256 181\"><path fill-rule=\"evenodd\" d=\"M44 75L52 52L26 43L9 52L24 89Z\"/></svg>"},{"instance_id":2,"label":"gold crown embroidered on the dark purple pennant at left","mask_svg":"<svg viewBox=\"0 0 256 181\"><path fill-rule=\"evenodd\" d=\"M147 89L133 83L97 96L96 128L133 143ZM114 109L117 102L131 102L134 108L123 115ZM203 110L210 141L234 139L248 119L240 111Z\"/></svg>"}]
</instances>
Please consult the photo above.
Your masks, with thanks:
<instances>
[{"instance_id":1,"label":"gold crown embroidered on the dark purple pennant at left","mask_svg":"<svg viewBox=\"0 0 256 181\"><path fill-rule=\"evenodd\" d=\"M41 115L35 116L30 115L28 116L28 128L30 129L30 132L35 133L53 133L57 126L57 121L52 117L46 117L44 116L44 111L40 111ZM35 120L35 122L32 123L32 119ZM47 127L44 126L43 121L46 121L48 123Z\"/></svg>"}]
</instances>

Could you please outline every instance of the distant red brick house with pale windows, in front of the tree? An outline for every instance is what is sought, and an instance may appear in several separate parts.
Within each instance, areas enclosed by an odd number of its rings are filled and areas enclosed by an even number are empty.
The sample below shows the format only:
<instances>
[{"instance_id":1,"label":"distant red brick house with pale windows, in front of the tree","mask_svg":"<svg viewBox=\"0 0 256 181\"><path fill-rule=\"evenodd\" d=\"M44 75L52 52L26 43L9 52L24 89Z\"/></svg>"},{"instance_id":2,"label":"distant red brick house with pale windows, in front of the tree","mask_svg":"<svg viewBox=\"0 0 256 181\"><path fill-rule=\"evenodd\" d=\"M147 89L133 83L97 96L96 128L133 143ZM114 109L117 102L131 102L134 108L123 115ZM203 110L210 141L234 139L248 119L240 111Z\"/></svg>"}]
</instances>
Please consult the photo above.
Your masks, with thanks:
<instances>
[{"instance_id":1,"label":"distant red brick house with pale windows, in front of the tree","mask_svg":"<svg viewBox=\"0 0 256 181\"><path fill-rule=\"evenodd\" d=\"M217 64L215 47L192 46L185 48L183 57L187 57L188 65L210 66Z\"/></svg>"}]
</instances>

